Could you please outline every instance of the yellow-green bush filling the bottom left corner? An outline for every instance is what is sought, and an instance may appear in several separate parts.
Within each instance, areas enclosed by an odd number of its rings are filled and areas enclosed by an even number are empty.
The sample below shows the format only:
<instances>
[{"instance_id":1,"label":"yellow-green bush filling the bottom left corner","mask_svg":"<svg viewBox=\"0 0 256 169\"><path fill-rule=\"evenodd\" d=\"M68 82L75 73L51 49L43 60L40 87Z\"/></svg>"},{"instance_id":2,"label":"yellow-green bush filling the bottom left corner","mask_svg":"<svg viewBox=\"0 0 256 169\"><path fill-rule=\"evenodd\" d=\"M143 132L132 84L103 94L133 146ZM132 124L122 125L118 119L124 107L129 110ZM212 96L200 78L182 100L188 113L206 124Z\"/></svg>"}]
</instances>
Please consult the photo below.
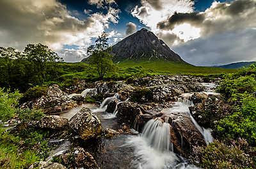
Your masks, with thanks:
<instances>
[{"instance_id":1,"label":"yellow-green bush filling the bottom left corner","mask_svg":"<svg viewBox=\"0 0 256 169\"><path fill-rule=\"evenodd\" d=\"M0 168L29 168L47 157L45 133L33 128L10 133L0 126Z\"/></svg>"}]
</instances>

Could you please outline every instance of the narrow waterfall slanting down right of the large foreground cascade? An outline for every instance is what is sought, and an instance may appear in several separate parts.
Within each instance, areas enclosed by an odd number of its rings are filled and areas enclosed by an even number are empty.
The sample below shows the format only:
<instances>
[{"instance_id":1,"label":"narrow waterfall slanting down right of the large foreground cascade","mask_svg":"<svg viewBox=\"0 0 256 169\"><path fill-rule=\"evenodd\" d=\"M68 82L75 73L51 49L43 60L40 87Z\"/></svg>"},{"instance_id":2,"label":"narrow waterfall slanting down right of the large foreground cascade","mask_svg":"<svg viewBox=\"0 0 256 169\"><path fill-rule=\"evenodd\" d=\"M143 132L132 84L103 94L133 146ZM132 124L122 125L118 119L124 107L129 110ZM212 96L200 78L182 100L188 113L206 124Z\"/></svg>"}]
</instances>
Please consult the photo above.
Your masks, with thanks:
<instances>
[{"instance_id":1,"label":"narrow waterfall slanting down right of the large foreground cascade","mask_svg":"<svg viewBox=\"0 0 256 169\"><path fill-rule=\"evenodd\" d=\"M200 133L204 136L205 143L209 144L213 141L211 135L211 129L202 128L194 119L194 117L190 114L189 108L193 106L193 102L186 98L179 98L178 101L175 103L173 108L170 108L171 112L184 112L189 115L191 121L195 125L196 129L200 131Z\"/></svg>"}]
</instances>

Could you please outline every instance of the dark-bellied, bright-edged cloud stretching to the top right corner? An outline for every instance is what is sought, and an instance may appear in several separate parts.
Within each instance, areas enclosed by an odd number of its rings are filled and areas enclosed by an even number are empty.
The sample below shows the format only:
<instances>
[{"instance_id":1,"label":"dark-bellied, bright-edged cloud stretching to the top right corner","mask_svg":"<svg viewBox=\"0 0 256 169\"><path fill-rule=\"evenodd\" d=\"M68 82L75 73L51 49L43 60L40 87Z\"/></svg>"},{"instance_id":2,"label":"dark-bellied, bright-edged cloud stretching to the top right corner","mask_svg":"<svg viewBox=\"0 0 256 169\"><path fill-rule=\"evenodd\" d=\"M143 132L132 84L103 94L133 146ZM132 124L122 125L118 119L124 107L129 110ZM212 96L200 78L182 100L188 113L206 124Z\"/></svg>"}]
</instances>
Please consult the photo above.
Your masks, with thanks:
<instances>
[{"instance_id":1,"label":"dark-bellied, bright-edged cloud stretching to the top right corner","mask_svg":"<svg viewBox=\"0 0 256 169\"><path fill-rule=\"evenodd\" d=\"M237 0L232 3L214 2L204 12L175 13L168 19L159 22L157 27L162 30L173 31L175 27L189 24L200 29L200 36L210 36L225 31L255 27L255 11L255 0Z\"/></svg>"}]
</instances>

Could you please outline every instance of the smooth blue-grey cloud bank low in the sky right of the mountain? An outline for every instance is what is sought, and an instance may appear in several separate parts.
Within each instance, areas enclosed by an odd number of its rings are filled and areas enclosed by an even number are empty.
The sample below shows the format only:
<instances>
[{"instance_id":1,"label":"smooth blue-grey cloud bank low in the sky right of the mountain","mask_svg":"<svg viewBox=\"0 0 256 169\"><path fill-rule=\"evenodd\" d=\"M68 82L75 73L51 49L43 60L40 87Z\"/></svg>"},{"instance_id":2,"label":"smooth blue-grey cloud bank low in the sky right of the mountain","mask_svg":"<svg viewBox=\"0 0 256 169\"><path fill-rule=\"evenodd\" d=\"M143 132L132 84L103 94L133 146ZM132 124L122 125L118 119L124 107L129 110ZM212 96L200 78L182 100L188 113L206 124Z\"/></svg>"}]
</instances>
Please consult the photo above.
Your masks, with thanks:
<instances>
[{"instance_id":1,"label":"smooth blue-grey cloud bank low in the sky right of the mountain","mask_svg":"<svg viewBox=\"0 0 256 169\"><path fill-rule=\"evenodd\" d=\"M256 61L256 29L229 31L201 37L174 47L182 59L196 66Z\"/></svg>"}]
</instances>

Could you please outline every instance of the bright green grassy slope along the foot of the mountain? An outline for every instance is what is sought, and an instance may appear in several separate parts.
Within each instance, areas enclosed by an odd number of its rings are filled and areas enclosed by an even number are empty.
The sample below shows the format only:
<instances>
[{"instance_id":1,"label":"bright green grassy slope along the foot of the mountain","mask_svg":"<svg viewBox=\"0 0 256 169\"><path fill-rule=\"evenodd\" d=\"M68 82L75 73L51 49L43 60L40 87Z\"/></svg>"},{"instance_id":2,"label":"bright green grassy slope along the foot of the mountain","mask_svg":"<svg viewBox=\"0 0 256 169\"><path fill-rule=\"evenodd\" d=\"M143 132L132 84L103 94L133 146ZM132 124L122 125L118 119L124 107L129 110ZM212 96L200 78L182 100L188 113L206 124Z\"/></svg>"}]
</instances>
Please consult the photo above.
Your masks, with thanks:
<instances>
[{"instance_id":1,"label":"bright green grassy slope along the foot of the mountain","mask_svg":"<svg viewBox=\"0 0 256 169\"><path fill-rule=\"evenodd\" d=\"M76 79L88 81L98 80L97 71L90 64L84 62L60 62L60 77L56 79L61 86L69 85ZM148 75L220 75L234 73L237 70L223 68L199 67L184 62L166 61L124 61L116 64L116 71L106 75L106 80L124 80L129 77L145 77ZM52 82L51 82L52 83ZM55 83L55 82L53 82Z\"/></svg>"}]
</instances>

